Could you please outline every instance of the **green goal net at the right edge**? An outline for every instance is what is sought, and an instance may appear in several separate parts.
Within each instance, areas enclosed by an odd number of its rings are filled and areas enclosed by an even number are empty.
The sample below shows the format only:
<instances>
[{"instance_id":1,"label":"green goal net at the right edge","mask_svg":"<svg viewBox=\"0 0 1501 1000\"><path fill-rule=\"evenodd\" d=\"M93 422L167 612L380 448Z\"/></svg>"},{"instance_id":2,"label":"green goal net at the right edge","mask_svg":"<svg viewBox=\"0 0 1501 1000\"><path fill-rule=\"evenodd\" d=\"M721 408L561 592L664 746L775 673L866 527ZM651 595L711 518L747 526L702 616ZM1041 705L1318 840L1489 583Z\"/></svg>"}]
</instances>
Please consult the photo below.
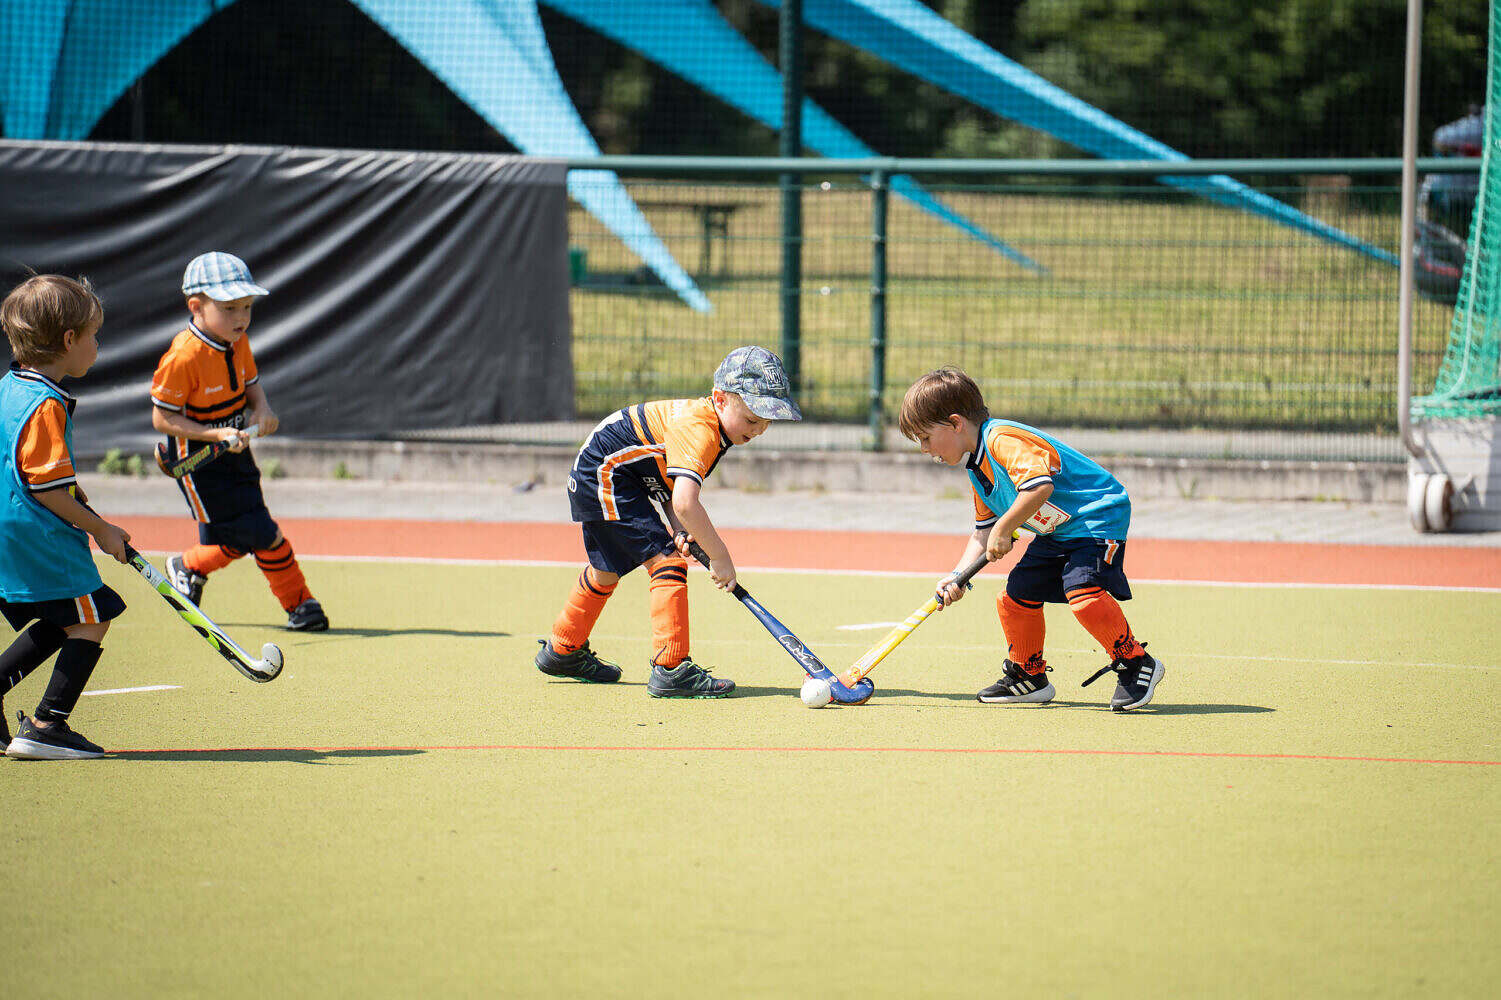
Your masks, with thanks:
<instances>
[{"instance_id":1,"label":"green goal net at the right edge","mask_svg":"<svg viewBox=\"0 0 1501 1000\"><path fill-rule=\"evenodd\" d=\"M1412 417L1478 417L1501 414L1501 18L1490 17L1490 65L1486 75L1484 143L1480 194L1469 224L1465 270L1448 329L1448 347L1432 395L1412 399Z\"/></svg>"}]
</instances>

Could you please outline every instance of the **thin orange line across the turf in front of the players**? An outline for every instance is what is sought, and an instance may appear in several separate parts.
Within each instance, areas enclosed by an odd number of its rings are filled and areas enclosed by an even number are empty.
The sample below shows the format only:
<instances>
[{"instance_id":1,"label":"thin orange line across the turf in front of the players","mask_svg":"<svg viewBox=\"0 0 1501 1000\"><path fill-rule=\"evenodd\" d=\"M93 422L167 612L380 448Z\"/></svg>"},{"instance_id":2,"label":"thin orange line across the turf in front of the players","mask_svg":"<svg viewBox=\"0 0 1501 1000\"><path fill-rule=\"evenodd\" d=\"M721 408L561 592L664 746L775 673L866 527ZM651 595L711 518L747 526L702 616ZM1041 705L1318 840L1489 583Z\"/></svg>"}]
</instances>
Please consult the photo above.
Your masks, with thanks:
<instances>
[{"instance_id":1,"label":"thin orange line across the turf in front of the players","mask_svg":"<svg viewBox=\"0 0 1501 1000\"><path fill-rule=\"evenodd\" d=\"M380 751L654 751L749 754L1030 754L1063 757L1198 757L1223 760L1327 760L1361 764L1471 764L1501 766L1501 760L1441 760L1424 757L1346 757L1339 754L1216 754L1207 751L1028 749L995 746L585 746L540 743L480 743L474 746L218 746L111 751L111 757L152 754L339 754Z\"/></svg>"}]
</instances>

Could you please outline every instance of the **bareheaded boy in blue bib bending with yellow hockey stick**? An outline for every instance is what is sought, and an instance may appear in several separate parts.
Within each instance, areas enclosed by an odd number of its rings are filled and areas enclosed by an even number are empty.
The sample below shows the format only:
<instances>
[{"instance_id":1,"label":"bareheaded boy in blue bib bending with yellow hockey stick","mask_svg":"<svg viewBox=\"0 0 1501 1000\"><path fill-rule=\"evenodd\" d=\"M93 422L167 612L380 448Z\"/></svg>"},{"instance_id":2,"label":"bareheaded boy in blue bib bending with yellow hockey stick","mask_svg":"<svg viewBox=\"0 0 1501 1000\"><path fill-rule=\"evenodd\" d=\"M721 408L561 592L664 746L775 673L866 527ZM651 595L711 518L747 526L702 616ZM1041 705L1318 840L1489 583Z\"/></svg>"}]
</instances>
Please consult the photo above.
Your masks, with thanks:
<instances>
[{"instance_id":1,"label":"bareheaded boy in blue bib bending with yellow hockey stick","mask_svg":"<svg viewBox=\"0 0 1501 1000\"><path fill-rule=\"evenodd\" d=\"M1162 662L1138 643L1117 601L1130 599L1126 583L1126 530L1130 498L1115 476L1036 428L992 419L973 378L940 368L913 383L902 399L902 434L925 455L970 473L974 535L959 566L938 581L940 607L964 592L953 577L988 553L1012 551L1012 532L1034 533L997 601L1007 658L1000 680L977 697L988 704L1052 701L1042 656L1043 604L1067 602L1079 625L1105 647L1114 670L1111 709L1129 712L1151 701Z\"/></svg>"}]
</instances>

